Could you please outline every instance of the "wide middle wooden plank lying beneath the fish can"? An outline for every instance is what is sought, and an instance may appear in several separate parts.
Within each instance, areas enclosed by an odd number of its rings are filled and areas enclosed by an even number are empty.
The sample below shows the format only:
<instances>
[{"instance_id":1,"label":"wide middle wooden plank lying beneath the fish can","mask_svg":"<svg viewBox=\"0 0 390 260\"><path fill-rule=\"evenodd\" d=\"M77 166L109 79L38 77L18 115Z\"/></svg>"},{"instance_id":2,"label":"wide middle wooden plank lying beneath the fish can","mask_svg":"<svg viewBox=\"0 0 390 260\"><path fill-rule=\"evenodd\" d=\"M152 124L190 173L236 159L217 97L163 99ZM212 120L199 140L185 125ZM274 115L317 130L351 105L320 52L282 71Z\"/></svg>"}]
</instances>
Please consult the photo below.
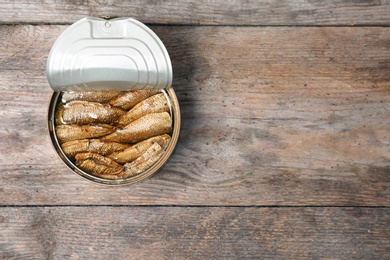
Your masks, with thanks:
<instances>
[{"instance_id":1,"label":"wide middle wooden plank lying beneath the fish can","mask_svg":"<svg viewBox=\"0 0 390 260\"><path fill-rule=\"evenodd\" d=\"M51 148L44 68L65 28L0 27L0 204L390 205L390 28L152 27L181 136L158 175L119 188Z\"/></svg>"}]
</instances>

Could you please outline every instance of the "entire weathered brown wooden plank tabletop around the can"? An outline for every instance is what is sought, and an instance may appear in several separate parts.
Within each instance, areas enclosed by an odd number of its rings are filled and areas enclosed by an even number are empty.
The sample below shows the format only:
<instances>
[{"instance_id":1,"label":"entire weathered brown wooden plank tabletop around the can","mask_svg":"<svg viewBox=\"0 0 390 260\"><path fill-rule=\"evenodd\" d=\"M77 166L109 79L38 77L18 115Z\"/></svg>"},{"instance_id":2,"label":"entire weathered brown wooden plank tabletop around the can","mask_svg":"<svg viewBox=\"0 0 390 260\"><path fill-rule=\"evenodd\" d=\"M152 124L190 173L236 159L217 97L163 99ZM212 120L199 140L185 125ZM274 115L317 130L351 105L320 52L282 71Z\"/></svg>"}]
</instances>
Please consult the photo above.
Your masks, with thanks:
<instances>
[{"instance_id":1,"label":"entire weathered brown wooden plank tabletop around the can","mask_svg":"<svg viewBox=\"0 0 390 260\"><path fill-rule=\"evenodd\" d=\"M136 185L76 176L47 132L50 48L102 15L172 58L180 139ZM389 25L387 0L2 0L0 258L389 259Z\"/></svg>"}]
</instances>

